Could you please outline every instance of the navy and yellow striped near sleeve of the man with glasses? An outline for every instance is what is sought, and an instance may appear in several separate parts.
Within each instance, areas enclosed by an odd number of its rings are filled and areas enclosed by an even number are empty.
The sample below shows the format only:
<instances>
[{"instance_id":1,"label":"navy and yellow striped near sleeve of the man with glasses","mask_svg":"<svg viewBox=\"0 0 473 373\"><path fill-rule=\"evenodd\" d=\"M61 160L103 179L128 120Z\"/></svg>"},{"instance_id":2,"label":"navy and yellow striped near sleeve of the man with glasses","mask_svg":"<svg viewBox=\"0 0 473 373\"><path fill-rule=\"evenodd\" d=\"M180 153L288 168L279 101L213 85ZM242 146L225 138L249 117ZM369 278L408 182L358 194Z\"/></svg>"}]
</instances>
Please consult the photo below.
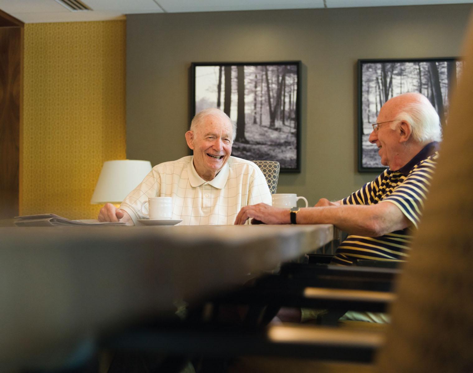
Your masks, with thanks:
<instances>
[{"instance_id":1,"label":"navy and yellow striped near sleeve of the man with glasses","mask_svg":"<svg viewBox=\"0 0 473 373\"><path fill-rule=\"evenodd\" d=\"M394 203L417 228L422 216L424 201L435 171L436 156L429 157L416 165L406 179L383 201Z\"/></svg>"}]
</instances>

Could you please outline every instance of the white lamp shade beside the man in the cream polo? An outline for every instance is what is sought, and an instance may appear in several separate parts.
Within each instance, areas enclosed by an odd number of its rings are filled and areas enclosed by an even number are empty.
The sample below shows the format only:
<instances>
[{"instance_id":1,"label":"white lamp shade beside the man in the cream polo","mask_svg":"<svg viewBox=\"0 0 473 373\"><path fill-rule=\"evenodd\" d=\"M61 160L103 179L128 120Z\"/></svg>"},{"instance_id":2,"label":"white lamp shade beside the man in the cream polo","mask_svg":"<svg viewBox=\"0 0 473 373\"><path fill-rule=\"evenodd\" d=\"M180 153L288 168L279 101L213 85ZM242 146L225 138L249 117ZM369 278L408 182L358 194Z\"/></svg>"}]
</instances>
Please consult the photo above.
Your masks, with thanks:
<instances>
[{"instance_id":1,"label":"white lamp shade beside the man in the cream polo","mask_svg":"<svg viewBox=\"0 0 473 373\"><path fill-rule=\"evenodd\" d=\"M104 162L90 203L122 202L149 171L149 161L125 159Z\"/></svg>"}]
</instances>

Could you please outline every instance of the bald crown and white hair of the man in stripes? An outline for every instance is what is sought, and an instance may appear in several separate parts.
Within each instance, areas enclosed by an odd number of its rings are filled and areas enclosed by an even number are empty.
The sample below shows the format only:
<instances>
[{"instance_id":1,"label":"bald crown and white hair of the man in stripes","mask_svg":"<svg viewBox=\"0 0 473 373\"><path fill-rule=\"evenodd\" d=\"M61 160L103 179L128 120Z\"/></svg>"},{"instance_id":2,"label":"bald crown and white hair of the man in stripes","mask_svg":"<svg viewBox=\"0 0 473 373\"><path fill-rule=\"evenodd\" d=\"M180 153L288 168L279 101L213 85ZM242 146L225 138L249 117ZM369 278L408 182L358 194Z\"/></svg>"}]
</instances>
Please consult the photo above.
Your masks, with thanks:
<instances>
[{"instance_id":1,"label":"bald crown and white hair of the man in stripes","mask_svg":"<svg viewBox=\"0 0 473 373\"><path fill-rule=\"evenodd\" d=\"M409 123L412 139L416 142L427 144L442 139L438 114L427 97L420 93L395 96L388 100L381 110L389 118Z\"/></svg>"}]
</instances>

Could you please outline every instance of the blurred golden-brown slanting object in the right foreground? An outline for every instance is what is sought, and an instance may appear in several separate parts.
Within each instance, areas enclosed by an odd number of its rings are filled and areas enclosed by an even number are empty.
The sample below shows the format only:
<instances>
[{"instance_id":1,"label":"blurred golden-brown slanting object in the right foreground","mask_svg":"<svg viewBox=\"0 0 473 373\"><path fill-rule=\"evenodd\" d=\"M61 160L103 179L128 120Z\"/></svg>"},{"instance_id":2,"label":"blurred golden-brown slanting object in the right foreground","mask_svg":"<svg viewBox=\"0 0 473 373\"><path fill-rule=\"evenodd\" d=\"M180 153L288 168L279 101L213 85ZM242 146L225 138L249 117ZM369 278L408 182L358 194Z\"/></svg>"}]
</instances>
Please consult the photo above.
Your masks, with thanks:
<instances>
[{"instance_id":1,"label":"blurred golden-brown slanting object in the right foreground","mask_svg":"<svg viewBox=\"0 0 473 373\"><path fill-rule=\"evenodd\" d=\"M473 372L473 19L466 35L464 72L379 372Z\"/></svg>"}]
</instances>

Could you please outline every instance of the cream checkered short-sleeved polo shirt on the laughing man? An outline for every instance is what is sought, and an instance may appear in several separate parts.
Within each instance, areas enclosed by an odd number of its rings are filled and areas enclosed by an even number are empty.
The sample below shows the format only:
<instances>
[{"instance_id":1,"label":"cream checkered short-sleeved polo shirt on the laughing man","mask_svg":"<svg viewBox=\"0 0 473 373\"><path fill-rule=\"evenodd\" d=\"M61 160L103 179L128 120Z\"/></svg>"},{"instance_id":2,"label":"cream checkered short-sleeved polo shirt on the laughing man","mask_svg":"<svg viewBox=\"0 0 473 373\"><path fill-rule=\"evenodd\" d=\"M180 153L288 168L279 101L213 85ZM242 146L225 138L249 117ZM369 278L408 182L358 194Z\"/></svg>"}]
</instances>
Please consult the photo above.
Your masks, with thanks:
<instances>
[{"instance_id":1,"label":"cream checkered short-sleeved polo shirt on the laughing man","mask_svg":"<svg viewBox=\"0 0 473 373\"><path fill-rule=\"evenodd\" d=\"M149 197L172 197L172 219L181 225L229 225L240 209L264 202L271 193L260 168L253 162L230 156L217 176L209 182L195 171L193 156L185 156L153 167L144 180L123 200L135 225L144 219L141 205Z\"/></svg>"}]
</instances>

